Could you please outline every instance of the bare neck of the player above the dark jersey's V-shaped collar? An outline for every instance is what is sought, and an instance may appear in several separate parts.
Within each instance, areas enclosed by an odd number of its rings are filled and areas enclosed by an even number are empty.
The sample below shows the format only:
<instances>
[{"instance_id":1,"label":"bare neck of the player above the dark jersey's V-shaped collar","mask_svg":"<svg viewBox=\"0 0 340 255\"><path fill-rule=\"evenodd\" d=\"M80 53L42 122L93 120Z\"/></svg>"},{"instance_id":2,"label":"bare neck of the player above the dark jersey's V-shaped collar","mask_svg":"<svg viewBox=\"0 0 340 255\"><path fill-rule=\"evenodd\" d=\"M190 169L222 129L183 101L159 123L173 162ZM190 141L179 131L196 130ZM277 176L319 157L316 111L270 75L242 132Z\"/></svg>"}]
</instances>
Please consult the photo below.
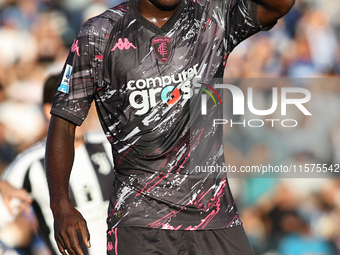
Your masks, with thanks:
<instances>
[{"instance_id":1,"label":"bare neck of the player above the dark jersey's V-shaped collar","mask_svg":"<svg viewBox=\"0 0 340 255\"><path fill-rule=\"evenodd\" d=\"M150 0L136 0L136 9L145 19L161 28L174 15L179 3L174 8L161 9Z\"/></svg>"}]
</instances>

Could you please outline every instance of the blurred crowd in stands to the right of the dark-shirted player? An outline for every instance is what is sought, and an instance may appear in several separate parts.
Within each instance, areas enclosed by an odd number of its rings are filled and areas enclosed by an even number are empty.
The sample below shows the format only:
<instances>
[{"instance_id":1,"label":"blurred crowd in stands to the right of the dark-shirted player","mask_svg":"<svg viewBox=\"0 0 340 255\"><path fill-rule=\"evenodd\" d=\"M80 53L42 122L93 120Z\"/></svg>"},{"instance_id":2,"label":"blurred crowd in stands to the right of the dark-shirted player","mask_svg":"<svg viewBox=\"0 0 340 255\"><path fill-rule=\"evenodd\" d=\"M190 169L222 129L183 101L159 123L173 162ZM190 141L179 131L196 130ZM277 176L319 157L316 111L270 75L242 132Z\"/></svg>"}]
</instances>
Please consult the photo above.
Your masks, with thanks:
<instances>
[{"instance_id":1,"label":"blurred crowd in stands to the right of the dark-shirted player","mask_svg":"<svg viewBox=\"0 0 340 255\"><path fill-rule=\"evenodd\" d=\"M300 86L311 91L306 107L313 113L307 117L289 111L286 119L299 122L294 129L227 126L225 152L232 165L322 163L332 167L340 163L339 14L337 1L296 1L272 30L241 43L230 55L225 77L249 78L248 86L256 83L251 78L275 78L278 87L280 77L304 78ZM268 86L255 86L258 108L270 108L271 93ZM319 178L308 178L306 173L300 178L284 178L284 174L231 178L256 254L340 254L339 176L337 171Z\"/></svg>"}]
</instances>

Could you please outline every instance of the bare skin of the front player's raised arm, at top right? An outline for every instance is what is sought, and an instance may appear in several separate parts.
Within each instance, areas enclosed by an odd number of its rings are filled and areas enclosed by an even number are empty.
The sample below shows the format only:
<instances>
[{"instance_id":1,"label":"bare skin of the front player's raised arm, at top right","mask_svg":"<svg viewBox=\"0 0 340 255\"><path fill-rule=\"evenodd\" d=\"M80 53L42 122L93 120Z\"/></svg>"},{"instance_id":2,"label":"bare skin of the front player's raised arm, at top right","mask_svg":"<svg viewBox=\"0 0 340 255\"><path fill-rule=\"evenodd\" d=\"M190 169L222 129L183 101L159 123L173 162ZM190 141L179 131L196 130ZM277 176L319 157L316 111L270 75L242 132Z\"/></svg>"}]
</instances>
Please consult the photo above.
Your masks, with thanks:
<instances>
[{"instance_id":1,"label":"bare skin of the front player's raised arm, at top right","mask_svg":"<svg viewBox=\"0 0 340 255\"><path fill-rule=\"evenodd\" d=\"M274 25L293 7L295 0L252 0L258 4L257 16L262 27Z\"/></svg>"}]
</instances>

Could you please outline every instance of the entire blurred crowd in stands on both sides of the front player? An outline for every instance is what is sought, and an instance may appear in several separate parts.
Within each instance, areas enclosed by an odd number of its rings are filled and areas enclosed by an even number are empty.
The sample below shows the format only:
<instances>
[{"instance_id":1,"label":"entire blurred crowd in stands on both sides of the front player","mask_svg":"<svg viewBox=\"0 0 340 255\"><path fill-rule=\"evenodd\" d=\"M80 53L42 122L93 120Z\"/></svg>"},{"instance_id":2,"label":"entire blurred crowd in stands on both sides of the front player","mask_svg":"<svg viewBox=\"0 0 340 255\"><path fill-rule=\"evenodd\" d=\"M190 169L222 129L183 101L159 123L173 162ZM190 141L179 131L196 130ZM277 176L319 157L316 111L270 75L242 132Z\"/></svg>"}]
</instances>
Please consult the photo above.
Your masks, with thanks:
<instances>
[{"instance_id":1,"label":"entire blurred crowd in stands on both sides of the front player","mask_svg":"<svg viewBox=\"0 0 340 255\"><path fill-rule=\"evenodd\" d=\"M42 85L61 71L80 25L119 2L0 0L0 173L45 136ZM339 1L296 1L272 30L234 50L225 77L322 78L315 86L301 85L312 92L313 117L292 113L299 120L294 131L226 127L232 165L340 164ZM254 93L259 104L270 105L271 89L259 86ZM340 254L339 172L321 176L327 178L265 177L230 179L256 254Z\"/></svg>"}]
</instances>

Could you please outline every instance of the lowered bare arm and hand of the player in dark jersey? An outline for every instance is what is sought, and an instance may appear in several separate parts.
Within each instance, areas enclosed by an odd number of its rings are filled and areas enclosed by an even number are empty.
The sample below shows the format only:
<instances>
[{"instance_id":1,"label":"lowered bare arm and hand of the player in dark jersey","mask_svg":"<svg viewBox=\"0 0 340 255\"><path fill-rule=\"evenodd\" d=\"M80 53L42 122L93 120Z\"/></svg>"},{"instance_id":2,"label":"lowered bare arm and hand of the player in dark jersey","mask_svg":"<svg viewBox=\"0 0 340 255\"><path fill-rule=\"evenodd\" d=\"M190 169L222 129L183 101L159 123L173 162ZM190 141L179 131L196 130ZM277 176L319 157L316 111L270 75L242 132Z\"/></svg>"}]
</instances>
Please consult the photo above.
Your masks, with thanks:
<instances>
[{"instance_id":1,"label":"lowered bare arm and hand of the player in dark jersey","mask_svg":"<svg viewBox=\"0 0 340 255\"><path fill-rule=\"evenodd\" d=\"M50 207L54 217L55 240L59 251L66 255L83 255L77 239L77 231L90 247L90 234L86 221L73 207L68 196L68 183L74 159L76 126L52 116L46 144L46 171L50 191Z\"/></svg>"}]
</instances>

